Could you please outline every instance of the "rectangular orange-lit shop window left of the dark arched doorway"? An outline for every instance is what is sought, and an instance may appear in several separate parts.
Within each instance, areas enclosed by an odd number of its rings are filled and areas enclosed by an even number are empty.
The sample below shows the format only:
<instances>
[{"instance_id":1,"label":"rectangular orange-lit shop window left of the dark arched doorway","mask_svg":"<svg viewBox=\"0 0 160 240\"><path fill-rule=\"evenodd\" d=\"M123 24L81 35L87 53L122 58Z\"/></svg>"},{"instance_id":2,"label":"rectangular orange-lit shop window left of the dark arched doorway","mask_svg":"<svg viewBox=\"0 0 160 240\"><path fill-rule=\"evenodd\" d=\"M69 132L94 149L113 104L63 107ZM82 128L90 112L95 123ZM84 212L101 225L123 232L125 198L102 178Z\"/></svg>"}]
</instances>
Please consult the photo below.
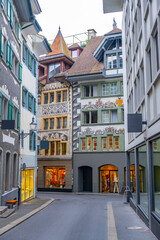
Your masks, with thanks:
<instances>
[{"instance_id":1,"label":"rectangular orange-lit shop window left of the dark arched doorway","mask_svg":"<svg viewBox=\"0 0 160 240\"><path fill-rule=\"evenodd\" d=\"M64 188L66 184L65 167L46 168L46 188Z\"/></svg>"}]
</instances>

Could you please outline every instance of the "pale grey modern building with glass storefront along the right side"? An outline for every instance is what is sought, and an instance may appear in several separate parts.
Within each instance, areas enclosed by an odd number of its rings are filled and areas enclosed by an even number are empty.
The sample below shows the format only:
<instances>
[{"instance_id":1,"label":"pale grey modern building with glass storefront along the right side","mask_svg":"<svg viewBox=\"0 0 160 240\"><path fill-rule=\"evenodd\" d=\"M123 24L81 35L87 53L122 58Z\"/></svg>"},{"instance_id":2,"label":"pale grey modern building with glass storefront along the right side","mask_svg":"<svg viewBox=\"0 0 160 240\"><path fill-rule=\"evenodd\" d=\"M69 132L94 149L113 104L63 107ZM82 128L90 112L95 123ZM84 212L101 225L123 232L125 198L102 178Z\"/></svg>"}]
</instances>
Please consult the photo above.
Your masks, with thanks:
<instances>
[{"instance_id":1,"label":"pale grey modern building with glass storefront along the right side","mask_svg":"<svg viewBox=\"0 0 160 240\"><path fill-rule=\"evenodd\" d=\"M116 7L123 9L125 118L139 113L146 123L138 133L126 126L130 203L160 239L160 1L117 1ZM104 0L104 11L115 6Z\"/></svg>"}]
</instances>

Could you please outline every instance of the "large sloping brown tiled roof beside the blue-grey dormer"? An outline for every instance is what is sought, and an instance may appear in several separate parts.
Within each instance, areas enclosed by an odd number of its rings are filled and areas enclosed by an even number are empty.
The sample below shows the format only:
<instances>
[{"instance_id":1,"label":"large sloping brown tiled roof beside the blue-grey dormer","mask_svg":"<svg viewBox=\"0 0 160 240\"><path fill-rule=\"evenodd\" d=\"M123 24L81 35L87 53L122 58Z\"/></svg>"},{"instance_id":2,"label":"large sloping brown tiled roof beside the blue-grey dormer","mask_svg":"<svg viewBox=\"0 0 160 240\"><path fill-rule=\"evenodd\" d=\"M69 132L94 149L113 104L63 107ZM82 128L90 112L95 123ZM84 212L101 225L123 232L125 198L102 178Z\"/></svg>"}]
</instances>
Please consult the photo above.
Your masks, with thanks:
<instances>
[{"instance_id":1,"label":"large sloping brown tiled roof beside the blue-grey dormer","mask_svg":"<svg viewBox=\"0 0 160 240\"><path fill-rule=\"evenodd\" d=\"M104 64L102 62L99 63L93 56L93 52L97 49L103 39L104 36L100 36L95 37L88 42L77 61L68 70L68 77L103 72Z\"/></svg>"}]
</instances>

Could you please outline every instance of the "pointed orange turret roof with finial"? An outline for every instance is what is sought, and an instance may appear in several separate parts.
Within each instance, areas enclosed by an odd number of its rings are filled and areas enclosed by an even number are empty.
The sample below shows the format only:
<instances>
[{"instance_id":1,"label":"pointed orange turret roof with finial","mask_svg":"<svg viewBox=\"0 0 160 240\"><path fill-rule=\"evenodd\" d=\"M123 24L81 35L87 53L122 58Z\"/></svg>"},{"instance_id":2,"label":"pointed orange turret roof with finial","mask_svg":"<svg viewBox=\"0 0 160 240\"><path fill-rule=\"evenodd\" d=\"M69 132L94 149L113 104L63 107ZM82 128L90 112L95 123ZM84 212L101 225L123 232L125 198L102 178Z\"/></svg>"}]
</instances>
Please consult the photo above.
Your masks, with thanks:
<instances>
[{"instance_id":1,"label":"pointed orange turret roof with finial","mask_svg":"<svg viewBox=\"0 0 160 240\"><path fill-rule=\"evenodd\" d=\"M64 38L63 38L60 28L59 28L56 38L54 39L54 41L52 43L51 50L52 50L52 52L48 53L47 56L64 54L67 57L71 58L71 55L69 54L67 45L64 41Z\"/></svg>"}]
</instances>

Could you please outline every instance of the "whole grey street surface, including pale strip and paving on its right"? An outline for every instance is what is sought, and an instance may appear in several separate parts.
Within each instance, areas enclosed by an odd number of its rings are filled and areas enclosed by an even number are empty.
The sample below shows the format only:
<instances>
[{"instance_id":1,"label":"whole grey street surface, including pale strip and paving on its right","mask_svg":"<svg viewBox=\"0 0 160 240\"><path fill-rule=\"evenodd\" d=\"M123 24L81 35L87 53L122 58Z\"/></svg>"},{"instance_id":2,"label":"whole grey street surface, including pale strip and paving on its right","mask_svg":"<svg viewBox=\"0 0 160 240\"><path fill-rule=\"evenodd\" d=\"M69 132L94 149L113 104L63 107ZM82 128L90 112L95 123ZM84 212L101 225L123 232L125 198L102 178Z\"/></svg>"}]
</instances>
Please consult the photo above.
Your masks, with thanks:
<instances>
[{"instance_id":1,"label":"whole grey street surface, including pale strip and paving on its right","mask_svg":"<svg viewBox=\"0 0 160 240\"><path fill-rule=\"evenodd\" d=\"M39 193L38 197L55 201L2 235L1 240L156 239L130 206L123 203L122 196ZM134 229L135 226L140 228Z\"/></svg>"}]
</instances>

